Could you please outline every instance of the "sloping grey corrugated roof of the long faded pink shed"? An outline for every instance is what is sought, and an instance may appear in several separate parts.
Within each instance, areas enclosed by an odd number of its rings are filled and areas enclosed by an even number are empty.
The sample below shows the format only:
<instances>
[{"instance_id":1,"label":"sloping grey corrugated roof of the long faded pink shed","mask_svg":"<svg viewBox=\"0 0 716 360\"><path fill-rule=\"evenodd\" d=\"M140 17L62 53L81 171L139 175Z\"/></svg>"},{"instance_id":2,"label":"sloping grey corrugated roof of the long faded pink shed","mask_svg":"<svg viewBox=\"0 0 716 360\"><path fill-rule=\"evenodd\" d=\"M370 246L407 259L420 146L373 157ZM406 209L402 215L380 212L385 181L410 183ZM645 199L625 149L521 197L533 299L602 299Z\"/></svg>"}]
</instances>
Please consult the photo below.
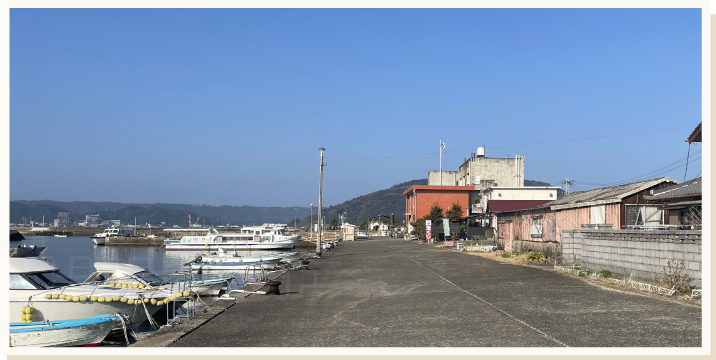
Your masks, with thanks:
<instances>
[{"instance_id":1,"label":"sloping grey corrugated roof of the long faded pink shed","mask_svg":"<svg viewBox=\"0 0 716 360\"><path fill-rule=\"evenodd\" d=\"M579 191L571 193L567 196L539 206L539 208L548 207L551 210L570 209L582 206L593 206L602 204L612 204L622 201L627 196L638 193L639 191L648 189L654 185L664 182L678 184L679 182L668 177L639 181L631 184L618 186L610 186L605 188Z\"/></svg>"}]
</instances>

